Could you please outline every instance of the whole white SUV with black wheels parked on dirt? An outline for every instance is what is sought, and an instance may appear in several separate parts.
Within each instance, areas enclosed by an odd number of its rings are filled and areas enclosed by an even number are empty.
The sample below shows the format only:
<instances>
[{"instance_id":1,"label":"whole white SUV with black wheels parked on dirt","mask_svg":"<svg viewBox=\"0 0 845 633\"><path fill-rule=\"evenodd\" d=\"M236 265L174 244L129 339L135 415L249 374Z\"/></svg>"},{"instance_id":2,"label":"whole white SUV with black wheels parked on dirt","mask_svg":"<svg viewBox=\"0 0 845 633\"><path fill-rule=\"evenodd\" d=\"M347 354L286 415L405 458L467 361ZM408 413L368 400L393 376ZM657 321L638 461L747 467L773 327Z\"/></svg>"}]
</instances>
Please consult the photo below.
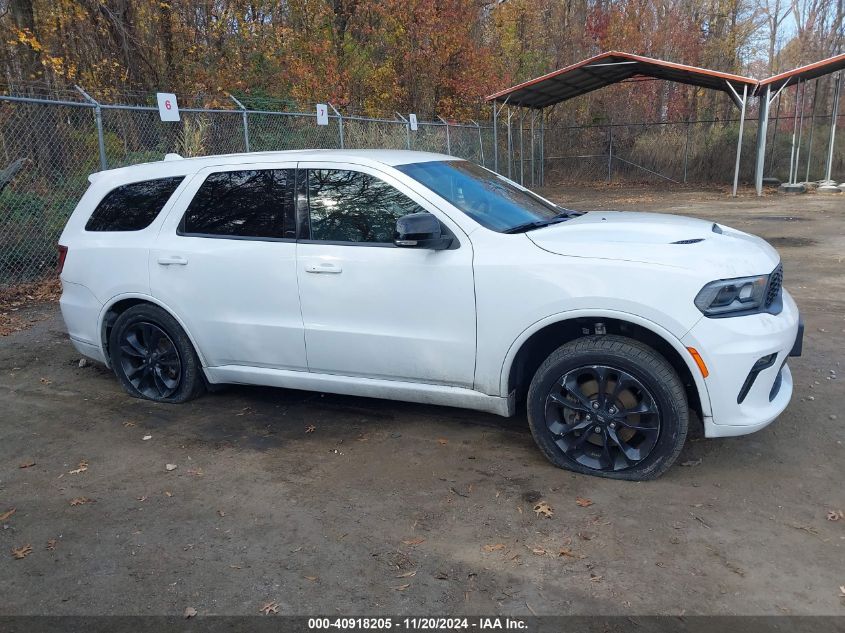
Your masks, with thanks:
<instances>
[{"instance_id":1,"label":"whole white SUV with black wheels parked on dirt","mask_svg":"<svg viewBox=\"0 0 845 633\"><path fill-rule=\"evenodd\" d=\"M777 252L712 222L563 209L471 162L315 150L94 174L60 240L62 314L130 395L271 385L523 402L555 465L664 472L787 406L798 308Z\"/></svg>"}]
</instances>

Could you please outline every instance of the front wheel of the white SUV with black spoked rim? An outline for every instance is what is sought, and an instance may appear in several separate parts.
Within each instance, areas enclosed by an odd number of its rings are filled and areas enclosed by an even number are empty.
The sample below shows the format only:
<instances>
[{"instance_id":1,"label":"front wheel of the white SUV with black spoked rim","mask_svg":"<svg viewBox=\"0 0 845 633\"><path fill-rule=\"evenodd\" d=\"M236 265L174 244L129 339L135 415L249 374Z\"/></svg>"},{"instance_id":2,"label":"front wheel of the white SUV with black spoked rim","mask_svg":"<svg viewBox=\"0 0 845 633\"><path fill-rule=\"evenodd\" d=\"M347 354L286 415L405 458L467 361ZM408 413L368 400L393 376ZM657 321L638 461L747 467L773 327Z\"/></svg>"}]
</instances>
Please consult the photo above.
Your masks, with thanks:
<instances>
[{"instance_id":1,"label":"front wheel of the white SUV with black spoked rim","mask_svg":"<svg viewBox=\"0 0 845 633\"><path fill-rule=\"evenodd\" d=\"M534 374L528 424L555 466L642 481L677 459L689 408L678 374L652 348L622 336L588 336L559 347Z\"/></svg>"}]
</instances>

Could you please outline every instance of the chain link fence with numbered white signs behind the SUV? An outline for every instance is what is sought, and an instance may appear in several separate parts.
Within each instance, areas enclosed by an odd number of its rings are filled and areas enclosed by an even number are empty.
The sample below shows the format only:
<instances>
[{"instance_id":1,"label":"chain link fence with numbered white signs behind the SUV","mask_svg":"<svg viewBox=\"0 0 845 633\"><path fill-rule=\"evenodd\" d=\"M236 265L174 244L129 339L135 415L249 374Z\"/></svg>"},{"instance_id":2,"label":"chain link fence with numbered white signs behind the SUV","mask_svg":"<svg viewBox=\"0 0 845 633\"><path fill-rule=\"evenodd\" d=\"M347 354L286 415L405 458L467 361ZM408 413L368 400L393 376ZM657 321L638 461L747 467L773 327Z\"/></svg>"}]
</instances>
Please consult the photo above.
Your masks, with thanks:
<instances>
[{"instance_id":1,"label":"chain link fence with numbered white signs behind the SUV","mask_svg":"<svg viewBox=\"0 0 845 633\"><path fill-rule=\"evenodd\" d=\"M157 108L0 95L0 287L55 272L56 242L88 187L88 175L161 160L309 148L414 149L487 164L492 129L476 123L329 116L316 111Z\"/></svg>"}]
</instances>

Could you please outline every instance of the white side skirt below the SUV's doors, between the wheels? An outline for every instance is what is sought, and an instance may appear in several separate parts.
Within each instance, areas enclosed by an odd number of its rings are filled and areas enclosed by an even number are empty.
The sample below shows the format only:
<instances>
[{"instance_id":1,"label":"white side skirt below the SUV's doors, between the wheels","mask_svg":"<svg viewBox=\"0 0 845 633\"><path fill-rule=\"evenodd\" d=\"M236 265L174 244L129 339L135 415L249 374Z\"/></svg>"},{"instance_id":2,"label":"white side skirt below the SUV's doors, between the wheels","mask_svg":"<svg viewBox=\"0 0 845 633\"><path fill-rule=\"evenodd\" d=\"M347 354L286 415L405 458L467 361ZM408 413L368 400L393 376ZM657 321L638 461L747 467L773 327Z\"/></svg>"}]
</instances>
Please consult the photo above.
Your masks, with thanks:
<instances>
[{"instance_id":1,"label":"white side skirt below the SUV's doors, between the wheels","mask_svg":"<svg viewBox=\"0 0 845 633\"><path fill-rule=\"evenodd\" d=\"M515 409L513 395L508 398L500 398L463 387L446 387L400 380L336 376L334 374L241 365L206 367L205 374L212 384L262 385L265 387L303 389L305 391L325 391L347 396L404 400L421 404L475 409L504 417L512 416Z\"/></svg>"}]
</instances>

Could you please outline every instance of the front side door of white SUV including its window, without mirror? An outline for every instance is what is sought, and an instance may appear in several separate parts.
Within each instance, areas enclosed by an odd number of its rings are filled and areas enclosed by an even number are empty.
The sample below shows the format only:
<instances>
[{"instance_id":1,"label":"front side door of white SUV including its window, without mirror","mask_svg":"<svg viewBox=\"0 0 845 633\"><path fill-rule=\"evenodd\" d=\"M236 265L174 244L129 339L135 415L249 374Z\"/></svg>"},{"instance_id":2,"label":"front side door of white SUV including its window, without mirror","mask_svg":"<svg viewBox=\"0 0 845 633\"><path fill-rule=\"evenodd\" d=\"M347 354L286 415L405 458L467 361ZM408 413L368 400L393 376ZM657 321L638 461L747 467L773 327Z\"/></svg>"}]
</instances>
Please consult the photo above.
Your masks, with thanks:
<instances>
[{"instance_id":1,"label":"front side door of white SUV including its window, without mirror","mask_svg":"<svg viewBox=\"0 0 845 633\"><path fill-rule=\"evenodd\" d=\"M308 368L472 387L472 246L447 217L389 173L299 163L297 245ZM428 211L450 250L393 244L396 219Z\"/></svg>"}]
</instances>

